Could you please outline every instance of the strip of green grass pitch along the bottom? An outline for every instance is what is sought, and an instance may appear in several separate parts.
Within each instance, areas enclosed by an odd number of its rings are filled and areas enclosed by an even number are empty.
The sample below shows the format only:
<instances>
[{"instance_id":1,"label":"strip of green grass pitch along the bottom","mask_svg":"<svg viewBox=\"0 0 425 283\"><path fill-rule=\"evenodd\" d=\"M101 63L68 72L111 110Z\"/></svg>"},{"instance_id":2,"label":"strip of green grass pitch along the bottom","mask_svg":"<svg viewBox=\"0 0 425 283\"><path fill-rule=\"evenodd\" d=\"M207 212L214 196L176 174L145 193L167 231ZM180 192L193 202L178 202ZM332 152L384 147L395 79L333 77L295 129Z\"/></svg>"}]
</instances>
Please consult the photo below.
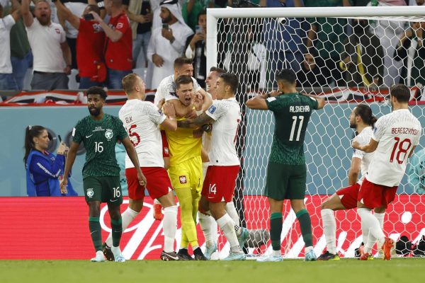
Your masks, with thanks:
<instances>
[{"instance_id":1,"label":"strip of green grass pitch along the bottom","mask_svg":"<svg viewBox=\"0 0 425 283\"><path fill-rule=\"evenodd\" d=\"M425 282L424 258L331 262L1 260L0 282Z\"/></svg>"}]
</instances>

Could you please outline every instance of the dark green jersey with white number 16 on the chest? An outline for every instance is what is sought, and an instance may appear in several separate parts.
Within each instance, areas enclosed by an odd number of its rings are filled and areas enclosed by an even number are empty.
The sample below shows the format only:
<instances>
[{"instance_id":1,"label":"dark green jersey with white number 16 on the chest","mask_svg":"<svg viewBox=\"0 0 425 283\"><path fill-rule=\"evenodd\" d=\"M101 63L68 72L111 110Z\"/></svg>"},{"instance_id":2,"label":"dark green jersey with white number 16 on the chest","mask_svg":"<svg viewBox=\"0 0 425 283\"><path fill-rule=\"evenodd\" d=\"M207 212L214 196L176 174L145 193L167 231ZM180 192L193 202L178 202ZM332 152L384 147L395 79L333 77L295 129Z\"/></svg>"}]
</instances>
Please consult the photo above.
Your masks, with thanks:
<instances>
[{"instance_id":1,"label":"dark green jersey with white number 16 on the chest","mask_svg":"<svg viewBox=\"0 0 425 283\"><path fill-rule=\"evenodd\" d=\"M86 163L83 167L83 179L86 177L119 176L120 167L115 158L117 140L128 137L118 117L104 114L102 120L84 117L74 127L72 140L84 143Z\"/></svg>"}]
</instances>

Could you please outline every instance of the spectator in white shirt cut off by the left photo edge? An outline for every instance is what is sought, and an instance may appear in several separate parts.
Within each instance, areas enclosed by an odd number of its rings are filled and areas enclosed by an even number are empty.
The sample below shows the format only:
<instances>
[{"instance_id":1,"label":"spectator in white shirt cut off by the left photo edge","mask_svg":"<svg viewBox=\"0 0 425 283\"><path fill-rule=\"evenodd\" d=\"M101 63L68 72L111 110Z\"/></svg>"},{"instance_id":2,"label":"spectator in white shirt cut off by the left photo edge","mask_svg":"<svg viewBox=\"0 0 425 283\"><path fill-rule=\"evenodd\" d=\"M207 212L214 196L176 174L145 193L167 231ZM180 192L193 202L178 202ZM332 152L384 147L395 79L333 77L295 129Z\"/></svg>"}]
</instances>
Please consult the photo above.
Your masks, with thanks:
<instances>
[{"instance_id":1,"label":"spectator in white shirt cut off by the left photo edge","mask_svg":"<svg viewBox=\"0 0 425 283\"><path fill-rule=\"evenodd\" d=\"M13 68L11 63L11 28L18 21L21 16L21 11L16 10L19 8L18 1L12 1L11 14L3 18L3 6L0 4L0 91L10 89L18 89L15 79L13 78Z\"/></svg>"}]
</instances>

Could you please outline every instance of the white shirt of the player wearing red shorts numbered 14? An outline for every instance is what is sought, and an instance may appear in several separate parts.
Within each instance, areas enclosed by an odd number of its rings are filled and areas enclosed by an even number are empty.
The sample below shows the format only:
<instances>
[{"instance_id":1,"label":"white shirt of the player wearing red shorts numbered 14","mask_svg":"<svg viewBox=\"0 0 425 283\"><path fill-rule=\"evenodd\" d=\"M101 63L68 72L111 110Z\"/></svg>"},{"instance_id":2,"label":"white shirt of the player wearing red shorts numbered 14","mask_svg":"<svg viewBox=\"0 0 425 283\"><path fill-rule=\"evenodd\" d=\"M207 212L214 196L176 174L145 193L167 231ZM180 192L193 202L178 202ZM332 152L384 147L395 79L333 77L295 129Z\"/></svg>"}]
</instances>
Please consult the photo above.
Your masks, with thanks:
<instances>
[{"instance_id":1,"label":"white shirt of the player wearing red shorts numbered 14","mask_svg":"<svg viewBox=\"0 0 425 283\"><path fill-rule=\"evenodd\" d=\"M215 122L212 124L210 166L239 165L236 151L237 129L241 120L241 108L236 98L214 100L205 112Z\"/></svg>"}]
</instances>

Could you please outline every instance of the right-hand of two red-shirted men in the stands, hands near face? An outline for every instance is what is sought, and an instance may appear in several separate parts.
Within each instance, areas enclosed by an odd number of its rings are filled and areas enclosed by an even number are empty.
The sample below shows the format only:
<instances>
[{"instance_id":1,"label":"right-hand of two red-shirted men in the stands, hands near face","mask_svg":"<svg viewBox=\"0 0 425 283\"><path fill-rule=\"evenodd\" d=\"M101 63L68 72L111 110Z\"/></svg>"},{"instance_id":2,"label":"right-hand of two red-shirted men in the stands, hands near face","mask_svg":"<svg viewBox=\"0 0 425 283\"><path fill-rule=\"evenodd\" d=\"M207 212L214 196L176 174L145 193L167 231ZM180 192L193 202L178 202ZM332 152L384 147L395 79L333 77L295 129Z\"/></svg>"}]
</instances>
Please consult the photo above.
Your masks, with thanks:
<instances>
[{"instance_id":1,"label":"right-hand of two red-shirted men in the stands, hands near face","mask_svg":"<svg viewBox=\"0 0 425 283\"><path fill-rule=\"evenodd\" d=\"M120 89L121 80L132 72L132 32L130 21L125 15L122 0L105 0L106 13L111 16L105 23L100 16L93 13L105 31L105 62L108 67L108 88Z\"/></svg>"}]
</instances>

